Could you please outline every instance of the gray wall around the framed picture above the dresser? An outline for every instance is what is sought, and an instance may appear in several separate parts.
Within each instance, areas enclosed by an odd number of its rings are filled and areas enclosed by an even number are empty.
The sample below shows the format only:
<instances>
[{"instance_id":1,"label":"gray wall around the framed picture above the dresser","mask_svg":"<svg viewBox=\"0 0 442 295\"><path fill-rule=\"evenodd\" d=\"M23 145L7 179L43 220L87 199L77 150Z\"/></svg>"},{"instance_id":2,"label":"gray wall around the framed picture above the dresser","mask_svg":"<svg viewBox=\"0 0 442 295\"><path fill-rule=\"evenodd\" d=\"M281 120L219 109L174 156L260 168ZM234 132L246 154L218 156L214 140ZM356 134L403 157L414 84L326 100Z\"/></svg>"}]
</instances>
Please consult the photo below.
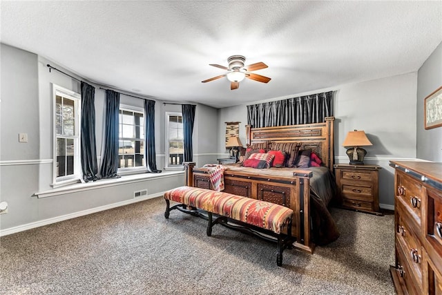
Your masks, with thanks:
<instances>
[{"instance_id":1,"label":"gray wall around the framed picture above the dresser","mask_svg":"<svg viewBox=\"0 0 442 295\"><path fill-rule=\"evenodd\" d=\"M442 127L425 130L424 99L442 86L442 43L423 63L417 80L417 158L442 162Z\"/></svg>"}]
</instances>

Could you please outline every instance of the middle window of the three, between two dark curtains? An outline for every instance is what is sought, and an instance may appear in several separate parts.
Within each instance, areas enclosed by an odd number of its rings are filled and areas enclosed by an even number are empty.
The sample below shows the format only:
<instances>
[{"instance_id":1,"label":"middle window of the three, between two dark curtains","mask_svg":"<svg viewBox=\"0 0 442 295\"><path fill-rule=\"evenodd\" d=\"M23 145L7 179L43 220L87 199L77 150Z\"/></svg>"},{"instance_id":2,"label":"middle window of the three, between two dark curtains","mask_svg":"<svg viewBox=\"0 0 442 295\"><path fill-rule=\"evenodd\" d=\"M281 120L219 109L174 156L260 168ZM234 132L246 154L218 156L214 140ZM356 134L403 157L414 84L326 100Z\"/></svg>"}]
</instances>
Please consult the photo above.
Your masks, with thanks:
<instances>
[{"instance_id":1,"label":"middle window of the three, between two dark curtains","mask_svg":"<svg viewBox=\"0 0 442 295\"><path fill-rule=\"evenodd\" d=\"M118 168L145 167L144 158L144 111L142 108L123 106L119 108Z\"/></svg>"}]
</instances>

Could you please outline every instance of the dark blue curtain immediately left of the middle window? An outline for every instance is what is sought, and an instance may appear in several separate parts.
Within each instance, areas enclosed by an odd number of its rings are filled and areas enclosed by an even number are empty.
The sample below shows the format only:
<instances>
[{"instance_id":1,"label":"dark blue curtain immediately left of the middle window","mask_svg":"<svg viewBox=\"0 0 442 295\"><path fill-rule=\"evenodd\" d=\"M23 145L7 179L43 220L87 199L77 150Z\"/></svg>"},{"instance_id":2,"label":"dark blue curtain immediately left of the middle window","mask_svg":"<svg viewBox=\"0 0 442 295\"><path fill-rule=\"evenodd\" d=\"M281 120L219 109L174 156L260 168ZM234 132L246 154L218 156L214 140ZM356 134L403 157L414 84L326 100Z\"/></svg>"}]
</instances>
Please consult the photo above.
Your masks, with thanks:
<instances>
[{"instance_id":1,"label":"dark blue curtain immediately left of the middle window","mask_svg":"<svg viewBox=\"0 0 442 295\"><path fill-rule=\"evenodd\" d=\"M102 160L102 178L119 178L118 140L119 140L119 93L106 90L106 126L104 154Z\"/></svg>"}]
</instances>

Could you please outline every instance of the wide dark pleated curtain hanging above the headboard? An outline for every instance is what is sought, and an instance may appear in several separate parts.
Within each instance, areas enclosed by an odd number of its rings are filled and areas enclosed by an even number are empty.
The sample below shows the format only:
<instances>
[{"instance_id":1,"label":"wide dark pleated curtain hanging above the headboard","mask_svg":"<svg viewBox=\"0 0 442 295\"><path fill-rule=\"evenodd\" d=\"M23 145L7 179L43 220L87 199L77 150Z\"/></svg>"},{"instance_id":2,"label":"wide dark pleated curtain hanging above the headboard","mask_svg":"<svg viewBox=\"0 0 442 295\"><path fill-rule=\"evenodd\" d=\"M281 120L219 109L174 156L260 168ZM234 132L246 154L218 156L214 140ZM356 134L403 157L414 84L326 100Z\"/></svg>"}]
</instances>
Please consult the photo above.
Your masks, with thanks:
<instances>
[{"instance_id":1,"label":"wide dark pleated curtain hanging above the headboard","mask_svg":"<svg viewBox=\"0 0 442 295\"><path fill-rule=\"evenodd\" d=\"M253 128L325 122L333 116L333 92L247 106L247 123Z\"/></svg>"}]
</instances>

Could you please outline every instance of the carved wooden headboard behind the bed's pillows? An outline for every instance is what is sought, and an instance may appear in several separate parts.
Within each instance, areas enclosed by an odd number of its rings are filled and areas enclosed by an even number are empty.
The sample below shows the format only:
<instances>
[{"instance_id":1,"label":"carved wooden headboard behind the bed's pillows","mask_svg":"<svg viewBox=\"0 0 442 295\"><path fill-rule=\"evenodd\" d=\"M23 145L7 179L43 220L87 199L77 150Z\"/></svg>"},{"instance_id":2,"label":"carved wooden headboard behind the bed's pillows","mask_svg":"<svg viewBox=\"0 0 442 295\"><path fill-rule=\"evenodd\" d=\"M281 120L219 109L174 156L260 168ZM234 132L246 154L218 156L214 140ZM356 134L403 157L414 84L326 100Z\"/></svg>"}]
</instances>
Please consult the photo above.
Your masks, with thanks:
<instances>
[{"instance_id":1,"label":"carved wooden headboard behind the bed's pillows","mask_svg":"<svg viewBox=\"0 0 442 295\"><path fill-rule=\"evenodd\" d=\"M300 124L278 127L253 128L246 125L247 144L266 142L300 142L301 149L311 149L317 153L325 166L333 171L334 164L334 117L325 117L323 123Z\"/></svg>"}]
</instances>

